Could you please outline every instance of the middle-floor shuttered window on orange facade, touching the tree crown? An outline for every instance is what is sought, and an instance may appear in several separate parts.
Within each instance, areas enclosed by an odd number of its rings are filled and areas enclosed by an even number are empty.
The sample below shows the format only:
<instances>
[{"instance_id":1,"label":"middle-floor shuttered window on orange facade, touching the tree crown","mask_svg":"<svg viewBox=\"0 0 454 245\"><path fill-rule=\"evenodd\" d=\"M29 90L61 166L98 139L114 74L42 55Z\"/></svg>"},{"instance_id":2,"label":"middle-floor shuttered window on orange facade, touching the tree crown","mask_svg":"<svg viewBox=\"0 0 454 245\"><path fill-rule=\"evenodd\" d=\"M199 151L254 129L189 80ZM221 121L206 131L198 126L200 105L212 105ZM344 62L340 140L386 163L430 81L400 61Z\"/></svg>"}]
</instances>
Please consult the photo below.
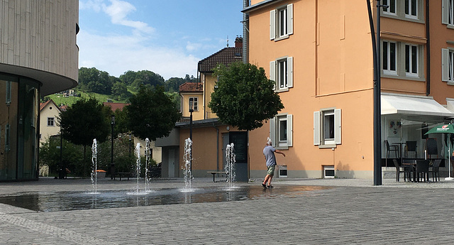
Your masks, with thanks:
<instances>
[{"instance_id":1,"label":"middle-floor shuttered window on orange facade, touching the tree crown","mask_svg":"<svg viewBox=\"0 0 454 245\"><path fill-rule=\"evenodd\" d=\"M284 67L281 66L282 64L284 64ZM289 88L293 87L293 57L270 61L270 80L275 81L277 92L288 91Z\"/></svg>"}]
</instances>

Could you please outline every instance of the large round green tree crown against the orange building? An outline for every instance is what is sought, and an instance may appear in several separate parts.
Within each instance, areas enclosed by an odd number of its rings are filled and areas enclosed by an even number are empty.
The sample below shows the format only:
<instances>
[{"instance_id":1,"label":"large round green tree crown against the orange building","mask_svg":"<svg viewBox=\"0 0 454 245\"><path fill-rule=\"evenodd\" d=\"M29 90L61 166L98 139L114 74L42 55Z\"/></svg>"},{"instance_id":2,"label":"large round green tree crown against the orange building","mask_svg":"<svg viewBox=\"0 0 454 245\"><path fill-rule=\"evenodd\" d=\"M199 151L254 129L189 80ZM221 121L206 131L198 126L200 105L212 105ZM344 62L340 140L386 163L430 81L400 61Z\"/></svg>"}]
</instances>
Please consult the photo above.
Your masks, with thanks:
<instances>
[{"instance_id":1,"label":"large round green tree crown against the orange building","mask_svg":"<svg viewBox=\"0 0 454 245\"><path fill-rule=\"evenodd\" d=\"M220 79L208 106L225 124L250 131L284 109L262 67L235 62L229 67L219 65L214 75Z\"/></svg>"}]
</instances>

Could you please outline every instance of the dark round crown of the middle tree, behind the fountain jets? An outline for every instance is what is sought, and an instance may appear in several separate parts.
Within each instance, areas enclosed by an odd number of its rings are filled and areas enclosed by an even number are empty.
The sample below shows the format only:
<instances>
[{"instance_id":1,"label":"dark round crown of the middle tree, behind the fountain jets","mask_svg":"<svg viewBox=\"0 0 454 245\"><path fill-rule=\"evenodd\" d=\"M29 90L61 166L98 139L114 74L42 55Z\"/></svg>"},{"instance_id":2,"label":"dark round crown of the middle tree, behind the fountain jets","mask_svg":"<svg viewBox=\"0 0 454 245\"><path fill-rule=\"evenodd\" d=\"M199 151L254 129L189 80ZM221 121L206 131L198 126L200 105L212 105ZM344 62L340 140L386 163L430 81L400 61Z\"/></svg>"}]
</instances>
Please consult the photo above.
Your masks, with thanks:
<instances>
[{"instance_id":1,"label":"dark round crown of the middle tree, behind the fountain jets","mask_svg":"<svg viewBox=\"0 0 454 245\"><path fill-rule=\"evenodd\" d=\"M181 117L179 109L164 93L162 86L154 89L141 86L130 100L131 104L126 106L128 128L139 138L155 141L156 138L169 136Z\"/></svg>"}]
</instances>

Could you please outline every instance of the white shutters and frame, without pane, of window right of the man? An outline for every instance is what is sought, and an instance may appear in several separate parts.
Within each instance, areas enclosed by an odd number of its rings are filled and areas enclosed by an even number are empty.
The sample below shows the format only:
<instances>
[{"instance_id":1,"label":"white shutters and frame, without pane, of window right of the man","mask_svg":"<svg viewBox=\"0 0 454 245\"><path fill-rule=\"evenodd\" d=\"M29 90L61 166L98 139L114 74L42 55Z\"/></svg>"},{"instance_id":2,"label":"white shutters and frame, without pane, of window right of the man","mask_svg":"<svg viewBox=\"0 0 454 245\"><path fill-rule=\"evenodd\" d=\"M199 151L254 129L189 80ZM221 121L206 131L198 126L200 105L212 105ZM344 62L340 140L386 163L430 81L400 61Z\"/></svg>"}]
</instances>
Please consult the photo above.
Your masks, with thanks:
<instances>
[{"instance_id":1,"label":"white shutters and frame, without pane, of window right of the man","mask_svg":"<svg viewBox=\"0 0 454 245\"><path fill-rule=\"evenodd\" d=\"M334 114L334 139L325 140L323 136L324 132L324 118L325 115ZM333 147L342 143L342 111L341 109L322 109L320 111L314 111L314 146L320 148Z\"/></svg>"}]
</instances>

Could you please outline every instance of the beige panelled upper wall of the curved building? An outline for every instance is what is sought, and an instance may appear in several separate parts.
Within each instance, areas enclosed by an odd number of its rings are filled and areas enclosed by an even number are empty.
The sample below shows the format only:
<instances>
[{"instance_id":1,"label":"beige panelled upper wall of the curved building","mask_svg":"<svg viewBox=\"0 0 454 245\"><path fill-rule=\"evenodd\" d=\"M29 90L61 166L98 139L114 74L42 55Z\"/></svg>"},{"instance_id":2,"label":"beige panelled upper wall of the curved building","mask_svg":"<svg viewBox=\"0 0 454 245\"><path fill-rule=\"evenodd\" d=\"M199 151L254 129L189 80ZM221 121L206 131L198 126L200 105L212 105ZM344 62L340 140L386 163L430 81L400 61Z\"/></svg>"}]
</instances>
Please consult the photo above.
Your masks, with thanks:
<instances>
[{"instance_id":1,"label":"beige panelled upper wall of the curved building","mask_svg":"<svg viewBox=\"0 0 454 245\"><path fill-rule=\"evenodd\" d=\"M1 0L0 62L77 81L77 0Z\"/></svg>"}]
</instances>

